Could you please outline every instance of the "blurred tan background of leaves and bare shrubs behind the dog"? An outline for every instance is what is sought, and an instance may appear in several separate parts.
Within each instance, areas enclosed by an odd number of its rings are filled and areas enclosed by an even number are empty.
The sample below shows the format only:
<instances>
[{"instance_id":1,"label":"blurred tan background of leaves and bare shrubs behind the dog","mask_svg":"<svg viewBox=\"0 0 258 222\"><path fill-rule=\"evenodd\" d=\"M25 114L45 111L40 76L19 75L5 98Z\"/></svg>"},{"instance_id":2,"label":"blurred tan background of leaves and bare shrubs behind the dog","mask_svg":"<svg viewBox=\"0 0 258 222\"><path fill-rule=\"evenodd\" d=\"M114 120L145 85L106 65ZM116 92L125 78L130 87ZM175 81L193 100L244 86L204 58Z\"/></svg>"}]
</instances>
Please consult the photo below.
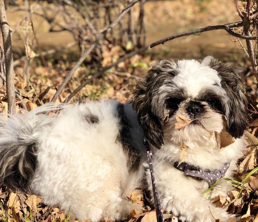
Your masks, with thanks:
<instances>
[{"instance_id":1,"label":"blurred tan background of leaves and bare shrubs behind the dog","mask_svg":"<svg viewBox=\"0 0 258 222\"><path fill-rule=\"evenodd\" d=\"M25 103L36 107L51 100L72 66L94 41L95 34L104 30L127 2L9 0L5 4L12 30L15 85ZM233 1L139 1L85 59L59 100L64 101L86 79L129 52L175 33L235 21L241 18ZM234 62L247 73L249 64L237 43L224 30L174 39L136 53L110 68L71 101L112 98L125 102L132 98L136 82L161 59L202 60L213 55L219 60Z\"/></svg>"}]
</instances>

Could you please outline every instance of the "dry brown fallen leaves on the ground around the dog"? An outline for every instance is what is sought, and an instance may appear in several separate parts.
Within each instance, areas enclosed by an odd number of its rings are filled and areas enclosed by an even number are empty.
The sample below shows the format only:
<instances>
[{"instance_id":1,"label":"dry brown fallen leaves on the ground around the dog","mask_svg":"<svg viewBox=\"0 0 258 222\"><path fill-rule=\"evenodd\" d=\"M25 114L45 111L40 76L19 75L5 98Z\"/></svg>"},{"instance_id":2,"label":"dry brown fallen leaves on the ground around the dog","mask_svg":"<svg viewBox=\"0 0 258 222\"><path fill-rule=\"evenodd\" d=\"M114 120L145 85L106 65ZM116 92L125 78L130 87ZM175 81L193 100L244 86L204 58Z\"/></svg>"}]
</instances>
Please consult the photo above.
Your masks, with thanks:
<instances>
[{"instance_id":1,"label":"dry brown fallen leaves on the ground around the dog","mask_svg":"<svg viewBox=\"0 0 258 222\"><path fill-rule=\"evenodd\" d=\"M115 49L109 48L110 54L106 59L104 66L114 62L114 55L119 53L119 47ZM112 52L112 53L111 53ZM157 60L152 60L150 56L135 55L130 59L120 63L117 67L111 68L104 73L101 78L94 79L93 82L85 86L71 102L82 102L99 99L117 99L120 102L125 102L133 98L132 91L136 83L141 80L147 73L147 70ZM57 86L60 85L63 78L69 72L74 63L65 63L60 60L58 63L48 62L48 66L40 66L39 60L35 58L29 68L29 76L23 72L23 67L15 68L15 88L19 91L24 99L28 110L37 108L38 106L50 102L55 94ZM246 66L246 63L240 66ZM247 64L248 66L248 64ZM88 72L88 70L91 70ZM67 84L65 90L62 91L59 101L63 101L71 91L76 89L85 79L90 78L94 72L94 68L90 65L82 66L75 72L73 79ZM234 175L232 182L232 191L230 202L223 196L219 195L214 198L213 204L218 207L224 207L230 213L241 215L242 222L255 221L258 222L258 168L257 168L257 146L258 146L258 112L256 106L257 100L257 82L252 75L244 73L243 81L247 85L247 98L249 105L247 109L250 113L250 128L246 132L246 154L245 157L239 160L238 171ZM7 113L6 87L0 85L0 111ZM20 107L20 101L17 100L17 112L24 112ZM179 118L179 128L190 123L180 122L184 117ZM182 125L183 124L183 125ZM232 139L227 135L223 135ZM214 134L216 140L216 135ZM228 143L227 143L228 144ZM230 144L230 143L229 143ZM186 145L182 145L180 155L182 160L186 158ZM223 147L226 149L226 145ZM226 179L228 180L228 179ZM147 192L139 190L132 191L128 195L128 199L134 204L143 206L144 213L138 214L132 210L130 222L154 222L156 214L154 207L150 201L150 196ZM178 219L170 212L164 212L166 221L177 221ZM216 219L216 218L215 218ZM64 211L59 209L59 206L46 206L42 204L42 198L35 195L24 193L14 193L6 187L0 188L0 221L5 222L27 222L27 221L77 221L76 218L66 215ZM86 220L90 222L90 220ZM108 222L107 218L103 218L102 222ZM235 219L230 219L233 222Z\"/></svg>"}]
</instances>

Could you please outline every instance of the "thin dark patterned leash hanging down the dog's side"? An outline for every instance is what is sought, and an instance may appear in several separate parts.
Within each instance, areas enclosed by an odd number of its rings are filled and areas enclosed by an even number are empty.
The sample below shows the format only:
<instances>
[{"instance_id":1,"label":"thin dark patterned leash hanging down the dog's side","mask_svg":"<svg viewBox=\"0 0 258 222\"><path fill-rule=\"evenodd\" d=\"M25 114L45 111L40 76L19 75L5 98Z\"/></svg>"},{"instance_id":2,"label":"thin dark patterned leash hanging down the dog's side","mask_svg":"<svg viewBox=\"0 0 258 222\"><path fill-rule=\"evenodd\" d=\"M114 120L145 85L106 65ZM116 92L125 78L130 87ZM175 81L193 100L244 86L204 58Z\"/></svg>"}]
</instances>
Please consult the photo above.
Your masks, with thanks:
<instances>
[{"instance_id":1,"label":"thin dark patterned leash hanging down the dog's side","mask_svg":"<svg viewBox=\"0 0 258 222\"><path fill-rule=\"evenodd\" d=\"M155 204L155 211L156 211L156 216L157 216L157 222L164 222L163 218L163 213L161 211L161 205L159 202L159 195L156 187L156 181L154 177L154 171L153 171L153 166L152 166L152 153L149 147L149 143L144 137L143 139L143 144L146 148L147 151L147 158L148 158L148 163L149 163L149 168L150 168L150 175L151 175L151 182L152 182L152 190L153 190L153 196L154 196L154 204Z\"/></svg>"}]
</instances>

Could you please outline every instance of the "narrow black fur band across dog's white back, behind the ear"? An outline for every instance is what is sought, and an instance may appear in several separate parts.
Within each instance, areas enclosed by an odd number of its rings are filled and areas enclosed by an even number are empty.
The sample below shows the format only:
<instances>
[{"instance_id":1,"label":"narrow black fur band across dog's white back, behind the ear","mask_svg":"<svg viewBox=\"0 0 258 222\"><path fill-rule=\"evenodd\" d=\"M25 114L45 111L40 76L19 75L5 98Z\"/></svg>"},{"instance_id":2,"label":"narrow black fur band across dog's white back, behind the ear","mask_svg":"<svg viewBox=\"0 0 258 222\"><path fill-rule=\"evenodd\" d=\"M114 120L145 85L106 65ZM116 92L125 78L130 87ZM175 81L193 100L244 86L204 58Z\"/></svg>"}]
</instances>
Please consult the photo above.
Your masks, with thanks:
<instances>
[{"instance_id":1,"label":"narrow black fur band across dog's white back, behind the ear","mask_svg":"<svg viewBox=\"0 0 258 222\"><path fill-rule=\"evenodd\" d=\"M127 169L129 171L136 170L140 163L140 151L137 149L136 144L134 144L132 124L125 113L124 104L119 103L117 105L117 114L119 118L119 134L117 141L122 144L127 156Z\"/></svg>"}]
</instances>

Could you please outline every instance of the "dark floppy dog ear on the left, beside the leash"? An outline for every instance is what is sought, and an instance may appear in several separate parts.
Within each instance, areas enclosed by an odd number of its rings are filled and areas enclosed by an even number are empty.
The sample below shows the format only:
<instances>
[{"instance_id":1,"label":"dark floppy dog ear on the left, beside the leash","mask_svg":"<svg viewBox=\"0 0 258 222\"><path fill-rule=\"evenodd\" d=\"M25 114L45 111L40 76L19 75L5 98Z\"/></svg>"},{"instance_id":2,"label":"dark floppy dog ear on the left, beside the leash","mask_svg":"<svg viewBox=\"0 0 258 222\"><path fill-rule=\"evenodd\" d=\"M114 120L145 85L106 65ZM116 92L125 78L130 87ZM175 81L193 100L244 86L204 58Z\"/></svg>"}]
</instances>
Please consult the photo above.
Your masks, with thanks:
<instances>
[{"instance_id":1,"label":"dark floppy dog ear on the left, beside the leash","mask_svg":"<svg viewBox=\"0 0 258 222\"><path fill-rule=\"evenodd\" d=\"M158 96L158 89L163 86L167 75L174 76L174 62L161 60L155 64L148 75L134 90L132 101L137 118L143 129L146 139L156 148L160 149L163 143L164 110L162 104L156 104L154 98Z\"/></svg>"}]
</instances>

